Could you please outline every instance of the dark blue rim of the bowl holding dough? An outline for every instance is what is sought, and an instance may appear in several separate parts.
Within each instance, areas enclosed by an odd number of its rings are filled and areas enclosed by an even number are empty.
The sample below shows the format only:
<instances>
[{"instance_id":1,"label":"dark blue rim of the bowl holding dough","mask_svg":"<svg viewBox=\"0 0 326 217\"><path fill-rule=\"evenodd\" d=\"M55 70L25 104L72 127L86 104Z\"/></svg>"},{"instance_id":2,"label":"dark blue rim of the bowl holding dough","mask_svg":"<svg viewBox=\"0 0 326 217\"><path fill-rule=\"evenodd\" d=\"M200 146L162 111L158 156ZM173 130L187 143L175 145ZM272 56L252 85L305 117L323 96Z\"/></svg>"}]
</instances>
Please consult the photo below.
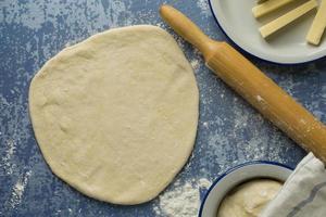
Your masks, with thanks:
<instances>
[{"instance_id":1,"label":"dark blue rim of the bowl holding dough","mask_svg":"<svg viewBox=\"0 0 326 217\"><path fill-rule=\"evenodd\" d=\"M202 212L203 212L203 208L204 208L204 204L210 195L210 193L212 192L212 190L215 188L215 186L222 181L227 175L234 173L235 170L238 170L242 167L246 167L246 166L250 166L250 165L273 165L273 166L278 166L278 167L283 167L283 168L286 168L286 169L289 169L289 170L294 170L294 168L288 166L288 165L285 165L285 164L281 164L281 163L278 163L278 162L269 162L269 161L251 161L251 162L247 162L247 163L243 163L243 164L239 164L239 165L236 165L235 167L231 167L230 169L226 170L225 173L223 173L221 176L218 176L214 181L213 183L211 184L211 187L209 188L209 190L205 192L205 195L203 197L203 200L201 201L201 204L200 204L200 209L199 209L199 213L198 213L198 216L199 217L202 217Z\"/></svg>"}]
</instances>

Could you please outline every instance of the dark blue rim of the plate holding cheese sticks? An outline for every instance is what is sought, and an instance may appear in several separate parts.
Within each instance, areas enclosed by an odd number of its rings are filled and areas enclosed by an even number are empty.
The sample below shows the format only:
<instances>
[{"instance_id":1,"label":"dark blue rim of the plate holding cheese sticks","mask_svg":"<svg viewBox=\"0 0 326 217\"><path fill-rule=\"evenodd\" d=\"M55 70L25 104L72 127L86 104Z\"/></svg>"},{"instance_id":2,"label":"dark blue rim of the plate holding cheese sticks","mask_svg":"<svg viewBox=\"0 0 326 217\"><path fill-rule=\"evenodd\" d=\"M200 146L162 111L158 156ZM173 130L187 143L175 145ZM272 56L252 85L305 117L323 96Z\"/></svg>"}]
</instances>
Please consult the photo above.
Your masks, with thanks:
<instances>
[{"instance_id":1,"label":"dark blue rim of the plate holding cheese sticks","mask_svg":"<svg viewBox=\"0 0 326 217\"><path fill-rule=\"evenodd\" d=\"M213 5L212 5L212 1L213 0L208 0L209 2L209 7L211 10L211 13L214 17L215 23L217 24L218 28L222 30L222 33L226 36L227 40L237 49L239 50L241 53L244 53L247 55L250 55L251 58L254 58L255 60L261 60L267 63L272 63L272 64L278 64L278 65L284 65L284 66L296 66L296 65L303 65L303 64L308 64L308 63L313 63L313 62L317 62L321 61L323 59L326 58L326 53L323 54L322 56L317 56L317 58L313 58L312 60L308 60L308 61L298 61L298 62L277 62L277 61L272 61L265 58L261 58L256 54L253 54L252 52L246 50L244 48L242 48L240 44L238 44L234 39L230 38L230 36L228 36L228 34L226 33L226 30L222 27L221 22L217 18L217 15L215 14L214 10L213 10Z\"/></svg>"}]
</instances>

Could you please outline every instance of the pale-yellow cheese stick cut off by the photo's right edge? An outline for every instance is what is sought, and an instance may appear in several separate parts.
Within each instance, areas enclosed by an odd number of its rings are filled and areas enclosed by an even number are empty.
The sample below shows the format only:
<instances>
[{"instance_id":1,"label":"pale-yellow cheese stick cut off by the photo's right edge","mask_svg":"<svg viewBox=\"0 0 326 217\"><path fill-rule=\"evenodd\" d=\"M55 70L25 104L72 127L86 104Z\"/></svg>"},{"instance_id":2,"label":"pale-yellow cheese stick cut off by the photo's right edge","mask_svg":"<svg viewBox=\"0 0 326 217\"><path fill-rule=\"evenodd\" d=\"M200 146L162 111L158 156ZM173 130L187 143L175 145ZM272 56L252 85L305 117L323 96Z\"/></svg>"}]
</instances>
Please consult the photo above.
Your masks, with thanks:
<instances>
[{"instance_id":1,"label":"pale-yellow cheese stick cut off by the photo's right edge","mask_svg":"<svg viewBox=\"0 0 326 217\"><path fill-rule=\"evenodd\" d=\"M308 33L306 41L318 46L326 28L326 0L322 0L317 15Z\"/></svg>"}]
</instances>

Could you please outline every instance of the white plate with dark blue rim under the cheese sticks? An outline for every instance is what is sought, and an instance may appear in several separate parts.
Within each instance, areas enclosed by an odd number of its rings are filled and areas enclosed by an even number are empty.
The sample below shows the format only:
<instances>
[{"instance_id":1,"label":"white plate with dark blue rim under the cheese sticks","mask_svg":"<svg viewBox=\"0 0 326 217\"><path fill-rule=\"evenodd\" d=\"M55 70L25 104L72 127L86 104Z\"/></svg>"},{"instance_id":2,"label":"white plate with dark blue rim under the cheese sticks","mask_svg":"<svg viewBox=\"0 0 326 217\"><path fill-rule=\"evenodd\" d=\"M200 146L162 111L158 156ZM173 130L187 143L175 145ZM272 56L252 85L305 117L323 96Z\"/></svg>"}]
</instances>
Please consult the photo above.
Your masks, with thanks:
<instances>
[{"instance_id":1,"label":"white plate with dark blue rim under the cheese sticks","mask_svg":"<svg viewBox=\"0 0 326 217\"><path fill-rule=\"evenodd\" d=\"M315 13L310 13L293 25L264 40L259 27L275 15L256 21L251 9L256 0L210 0L211 10L223 31L246 52L274 63L298 64L326 56L326 34L319 47L305 42L305 35ZM284 12L279 12L280 15ZM276 16L277 17L277 16Z\"/></svg>"}]
</instances>

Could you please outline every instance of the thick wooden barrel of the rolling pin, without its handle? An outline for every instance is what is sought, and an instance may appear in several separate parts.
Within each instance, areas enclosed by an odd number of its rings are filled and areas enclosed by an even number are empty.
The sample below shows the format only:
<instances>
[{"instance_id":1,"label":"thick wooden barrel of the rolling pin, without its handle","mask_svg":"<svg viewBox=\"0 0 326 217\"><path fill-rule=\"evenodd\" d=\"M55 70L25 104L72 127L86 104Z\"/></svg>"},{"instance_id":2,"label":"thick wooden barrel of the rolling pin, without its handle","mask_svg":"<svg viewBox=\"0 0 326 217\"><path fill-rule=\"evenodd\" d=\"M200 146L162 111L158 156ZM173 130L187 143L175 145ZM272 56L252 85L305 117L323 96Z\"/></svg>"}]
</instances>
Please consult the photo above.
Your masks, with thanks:
<instances>
[{"instance_id":1,"label":"thick wooden barrel of the rolling pin, without its handle","mask_svg":"<svg viewBox=\"0 0 326 217\"><path fill-rule=\"evenodd\" d=\"M326 162L326 127L227 43L206 60L227 85L292 140Z\"/></svg>"}]
</instances>

